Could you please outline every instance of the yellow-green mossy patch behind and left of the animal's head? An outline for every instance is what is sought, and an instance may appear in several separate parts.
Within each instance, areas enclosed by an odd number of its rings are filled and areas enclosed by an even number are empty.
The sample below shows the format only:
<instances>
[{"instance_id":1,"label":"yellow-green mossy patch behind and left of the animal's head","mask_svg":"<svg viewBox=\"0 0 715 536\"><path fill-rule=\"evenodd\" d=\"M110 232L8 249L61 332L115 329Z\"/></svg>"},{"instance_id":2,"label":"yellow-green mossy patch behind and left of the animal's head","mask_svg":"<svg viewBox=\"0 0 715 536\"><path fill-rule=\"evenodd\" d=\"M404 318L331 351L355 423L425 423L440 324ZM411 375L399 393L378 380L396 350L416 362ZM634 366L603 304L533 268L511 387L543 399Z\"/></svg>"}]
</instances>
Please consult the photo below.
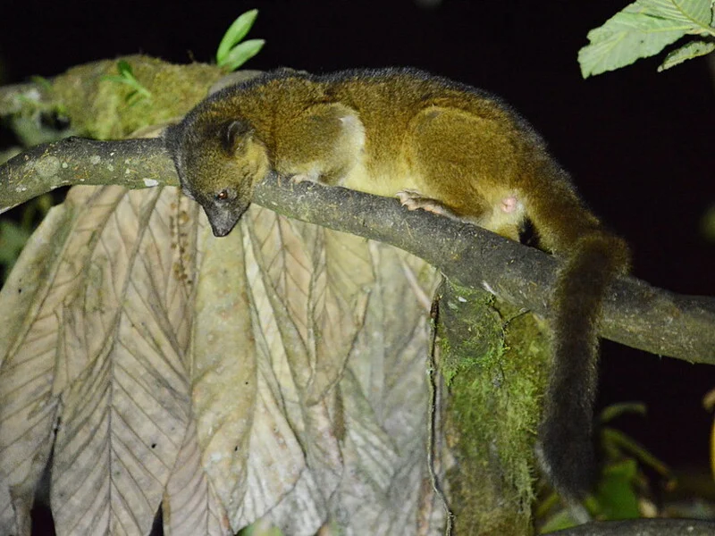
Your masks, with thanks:
<instances>
[{"instance_id":1,"label":"yellow-green mossy patch behind and left of the animal's head","mask_svg":"<svg viewBox=\"0 0 715 536\"><path fill-rule=\"evenodd\" d=\"M130 65L150 98L131 99L130 86L105 80L106 76L117 74L121 60ZM172 65L148 56L131 55L73 67L53 80L53 90L80 135L116 139L183 116L222 76L223 71L215 65Z\"/></svg>"}]
</instances>

